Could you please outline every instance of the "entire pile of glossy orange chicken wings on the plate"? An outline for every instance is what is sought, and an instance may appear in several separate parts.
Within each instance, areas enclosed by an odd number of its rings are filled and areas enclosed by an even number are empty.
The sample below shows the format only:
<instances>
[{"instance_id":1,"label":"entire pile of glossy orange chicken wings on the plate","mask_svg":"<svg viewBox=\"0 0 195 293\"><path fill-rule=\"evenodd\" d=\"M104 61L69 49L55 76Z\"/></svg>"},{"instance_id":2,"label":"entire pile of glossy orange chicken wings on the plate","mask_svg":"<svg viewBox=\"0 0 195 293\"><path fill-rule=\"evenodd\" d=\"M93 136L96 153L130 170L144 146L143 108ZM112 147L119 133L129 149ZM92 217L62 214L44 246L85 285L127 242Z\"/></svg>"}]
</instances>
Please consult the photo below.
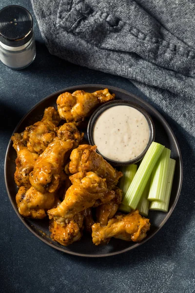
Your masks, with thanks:
<instances>
[{"instance_id":1,"label":"entire pile of glossy orange chicken wings on the plate","mask_svg":"<svg viewBox=\"0 0 195 293\"><path fill-rule=\"evenodd\" d=\"M58 111L46 108L41 121L11 138L17 152L19 212L33 219L48 215L51 238L63 246L78 241L84 230L98 245L111 237L141 241L150 228L149 219L137 210L117 211L122 173L96 152L96 146L84 143L77 128L99 105L114 98L108 89L65 92L57 99Z\"/></svg>"}]
</instances>

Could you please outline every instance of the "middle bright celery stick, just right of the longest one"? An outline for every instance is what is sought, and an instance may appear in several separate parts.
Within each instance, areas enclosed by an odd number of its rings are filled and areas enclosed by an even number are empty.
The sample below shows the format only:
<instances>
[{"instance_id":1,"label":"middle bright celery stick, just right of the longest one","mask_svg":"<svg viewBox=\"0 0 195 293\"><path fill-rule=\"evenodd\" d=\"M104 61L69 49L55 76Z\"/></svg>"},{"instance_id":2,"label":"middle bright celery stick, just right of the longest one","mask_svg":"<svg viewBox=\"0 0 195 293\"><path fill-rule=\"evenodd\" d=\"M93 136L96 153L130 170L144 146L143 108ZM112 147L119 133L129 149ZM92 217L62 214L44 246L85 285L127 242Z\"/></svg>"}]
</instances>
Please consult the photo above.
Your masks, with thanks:
<instances>
[{"instance_id":1,"label":"middle bright celery stick, just right of the longest one","mask_svg":"<svg viewBox=\"0 0 195 293\"><path fill-rule=\"evenodd\" d=\"M170 154L171 150L165 147L153 169L148 194L149 201L157 200L163 202L164 200Z\"/></svg>"}]
</instances>

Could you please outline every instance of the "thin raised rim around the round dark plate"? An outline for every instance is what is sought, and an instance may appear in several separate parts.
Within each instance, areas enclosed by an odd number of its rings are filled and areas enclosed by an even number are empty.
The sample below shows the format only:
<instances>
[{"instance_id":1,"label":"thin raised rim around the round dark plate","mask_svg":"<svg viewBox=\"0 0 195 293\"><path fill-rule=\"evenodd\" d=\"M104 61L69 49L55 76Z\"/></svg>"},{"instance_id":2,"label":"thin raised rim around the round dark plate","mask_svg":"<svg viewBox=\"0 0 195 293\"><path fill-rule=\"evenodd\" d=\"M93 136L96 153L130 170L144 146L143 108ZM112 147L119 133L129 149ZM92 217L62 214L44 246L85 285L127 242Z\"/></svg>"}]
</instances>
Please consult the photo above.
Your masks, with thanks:
<instances>
[{"instance_id":1,"label":"thin raised rim around the round dark plate","mask_svg":"<svg viewBox=\"0 0 195 293\"><path fill-rule=\"evenodd\" d=\"M50 243L49 241L46 241L43 237L41 237L39 234L37 234L24 220L24 218L22 217L22 215L20 215L18 209L14 206L14 203L13 203L13 200L11 198L11 193L9 191L9 188L8 188L8 183L7 183L7 162L8 162L8 152L9 152L9 149L10 149L10 146L12 144L12 141L11 141L11 137L10 137L10 140L9 140L9 143L8 143L8 146L7 146L7 149L6 149L6 153L5 153L5 160L4 160L4 180L5 180L5 187L6 187L6 191L7 191L7 194L8 194L8 198L11 202L11 205L13 207L13 209L15 210L16 214L18 215L18 217L20 218L21 222L24 224L24 226L29 230L31 231L39 240L41 240L42 242L44 242L45 244L49 245L50 247L54 248L54 249L57 249L59 251L62 251L64 253L68 253L68 254L71 254L71 255L77 255L77 256L81 256L81 257L106 257L106 256L113 256L113 255L117 255L117 254L120 254L120 253L124 253L124 252L127 252L127 251L131 251L135 248L137 248L138 246L144 244L145 242L147 242L149 239L151 239L153 236L155 236L155 234L163 227L163 225L168 221L168 219L170 218L172 212L174 211L175 207L176 207L176 204L177 204L177 201L179 199L179 196L180 196L180 193L181 193L181 188L182 188L182 182L183 182L183 161L182 161L182 155L181 155L181 150L180 150L180 147L179 147L179 144L178 144L178 141L176 139L176 136L175 136L175 133L173 132L172 128L170 127L170 125L167 123L167 121L165 120L165 118L161 115L160 112L158 112L156 110L156 108L151 105L150 103L146 102L144 99L140 98L139 96L137 96L136 94L132 93L132 92L129 92L127 90L124 90L122 88L119 88L119 87L116 87L116 86L112 86L112 85L105 85L105 84L78 84L78 85L74 85L74 86L70 86L70 87L65 87L61 90L58 90L56 92L53 92L51 93L50 95L46 96L45 98L41 99L36 105L34 105L19 121L19 123L17 124L17 126L15 127L13 133L16 132L17 128L19 128L20 124L25 120L25 118L37 107L39 106L39 104L42 104L44 101L46 100L49 100L51 99L54 95L59 95L61 94L62 92L64 91L73 91L73 90L78 90L78 87L82 87L83 89L86 88L86 87L103 87L103 88L108 88L109 90L116 90L116 91L119 91L119 92L122 92L126 95L130 95L132 96L133 98L135 98L136 100L140 101L142 104L144 105L147 105L149 107L152 108L153 112L155 112L157 114L157 116L160 117L160 119L163 121L163 123L167 126L169 132L171 133L173 139L174 139L174 142L176 143L176 148L177 148L177 151L178 151L178 154L179 154L179 168L180 168L180 178L179 178L179 188L177 190L177 193L176 193L176 199L171 207L171 209L167 212L167 215L166 217L164 218L164 220L161 222L160 226L158 227L158 229L153 232L150 236L148 236L147 238L145 238L144 240L142 240L141 242L138 242L136 243L134 246L132 247L129 247L129 248L126 248L126 249L123 249L122 251L116 251L116 252L110 252L110 253L105 253L105 254L84 254L84 253L78 253L78 252L73 252L73 251L65 251L64 249L60 248L60 247L57 247L55 246L53 243ZM12 133L12 135L13 135Z\"/></svg>"}]
</instances>

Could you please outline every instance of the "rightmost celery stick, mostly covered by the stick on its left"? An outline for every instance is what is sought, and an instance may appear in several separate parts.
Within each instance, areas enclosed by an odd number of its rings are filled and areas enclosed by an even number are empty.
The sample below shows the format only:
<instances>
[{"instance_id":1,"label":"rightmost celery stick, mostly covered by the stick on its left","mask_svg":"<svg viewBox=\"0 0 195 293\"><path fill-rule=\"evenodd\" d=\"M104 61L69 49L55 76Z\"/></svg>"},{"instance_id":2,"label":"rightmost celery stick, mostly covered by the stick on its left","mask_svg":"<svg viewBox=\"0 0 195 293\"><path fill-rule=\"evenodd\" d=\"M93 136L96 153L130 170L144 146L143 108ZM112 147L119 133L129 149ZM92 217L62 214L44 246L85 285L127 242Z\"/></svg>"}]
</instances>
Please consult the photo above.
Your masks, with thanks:
<instances>
[{"instance_id":1,"label":"rightmost celery stick, mostly covered by the stick on its left","mask_svg":"<svg viewBox=\"0 0 195 293\"><path fill-rule=\"evenodd\" d=\"M174 179L175 167L176 167L176 161L173 159L169 159L164 202L153 201L153 202L151 202L150 209L162 210L165 212L168 211L169 201L170 201L170 196L171 196L171 188L172 188L173 179Z\"/></svg>"}]
</instances>

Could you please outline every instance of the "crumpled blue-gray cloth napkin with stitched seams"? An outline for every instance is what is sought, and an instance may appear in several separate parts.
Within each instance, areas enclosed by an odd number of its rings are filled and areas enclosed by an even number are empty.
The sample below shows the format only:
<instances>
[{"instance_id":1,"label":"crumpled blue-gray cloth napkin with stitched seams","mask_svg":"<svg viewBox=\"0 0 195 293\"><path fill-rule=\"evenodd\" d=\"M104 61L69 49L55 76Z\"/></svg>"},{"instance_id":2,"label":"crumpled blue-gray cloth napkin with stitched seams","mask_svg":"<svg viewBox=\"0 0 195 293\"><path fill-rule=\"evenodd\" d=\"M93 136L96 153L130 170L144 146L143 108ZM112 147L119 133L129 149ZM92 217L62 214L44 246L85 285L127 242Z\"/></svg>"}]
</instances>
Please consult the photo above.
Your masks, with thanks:
<instances>
[{"instance_id":1,"label":"crumpled blue-gray cloth napkin with stitched seams","mask_svg":"<svg viewBox=\"0 0 195 293\"><path fill-rule=\"evenodd\" d=\"M128 78L195 136L195 2L31 1L51 54Z\"/></svg>"}]
</instances>

